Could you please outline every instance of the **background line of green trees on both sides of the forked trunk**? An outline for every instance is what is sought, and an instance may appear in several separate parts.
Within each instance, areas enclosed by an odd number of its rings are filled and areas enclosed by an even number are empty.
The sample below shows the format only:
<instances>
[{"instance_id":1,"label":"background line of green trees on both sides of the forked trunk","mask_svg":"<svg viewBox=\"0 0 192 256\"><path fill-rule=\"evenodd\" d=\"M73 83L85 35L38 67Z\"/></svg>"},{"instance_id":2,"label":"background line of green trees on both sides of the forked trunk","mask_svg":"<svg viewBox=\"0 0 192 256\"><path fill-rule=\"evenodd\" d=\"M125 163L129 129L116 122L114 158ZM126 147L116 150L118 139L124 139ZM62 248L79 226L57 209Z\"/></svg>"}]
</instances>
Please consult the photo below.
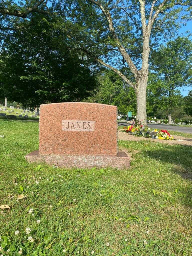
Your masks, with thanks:
<instances>
[{"instance_id":1,"label":"background line of green trees on both sides of the forked trunk","mask_svg":"<svg viewBox=\"0 0 192 256\"><path fill-rule=\"evenodd\" d=\"M54 17L39 19L34 14L33 23L27 28L3 35L0 47L1 102L5 96L9 101L31 107L89 101L117 105L120 112L132 111L136 115L134 89L112 70L98 68L81 50L71 49L67 35L61 33ZM192 82L189 36L178 36L161 44L151 55L147 116L175 119L192 115L192 92L187 97L180 93ZM129 69L124 66L122 70L131 79Z\"/></svg>"}]
</instances>

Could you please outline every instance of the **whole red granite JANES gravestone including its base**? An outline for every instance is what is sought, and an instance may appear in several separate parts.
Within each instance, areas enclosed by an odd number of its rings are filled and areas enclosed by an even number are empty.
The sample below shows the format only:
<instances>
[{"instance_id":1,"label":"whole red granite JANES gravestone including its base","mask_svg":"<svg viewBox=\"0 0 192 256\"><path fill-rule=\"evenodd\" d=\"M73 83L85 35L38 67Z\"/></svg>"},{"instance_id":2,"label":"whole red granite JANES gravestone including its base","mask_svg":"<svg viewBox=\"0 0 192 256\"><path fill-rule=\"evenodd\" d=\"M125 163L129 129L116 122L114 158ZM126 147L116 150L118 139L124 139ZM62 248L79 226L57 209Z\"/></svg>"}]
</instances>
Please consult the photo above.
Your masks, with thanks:
<instances>
[{"instance_id":1,"label":"whole red granite JANES gravestone including its base","mask_svg":"<svg viewBox=\"0 0 192 256\"><path fill-rule=\"evenodd\" d=\"M77 102L43 104L39 151L30 153L26 159L61 167L129 167L130 158L117 149L116 106Z\"/></svg>"}]
</instances>

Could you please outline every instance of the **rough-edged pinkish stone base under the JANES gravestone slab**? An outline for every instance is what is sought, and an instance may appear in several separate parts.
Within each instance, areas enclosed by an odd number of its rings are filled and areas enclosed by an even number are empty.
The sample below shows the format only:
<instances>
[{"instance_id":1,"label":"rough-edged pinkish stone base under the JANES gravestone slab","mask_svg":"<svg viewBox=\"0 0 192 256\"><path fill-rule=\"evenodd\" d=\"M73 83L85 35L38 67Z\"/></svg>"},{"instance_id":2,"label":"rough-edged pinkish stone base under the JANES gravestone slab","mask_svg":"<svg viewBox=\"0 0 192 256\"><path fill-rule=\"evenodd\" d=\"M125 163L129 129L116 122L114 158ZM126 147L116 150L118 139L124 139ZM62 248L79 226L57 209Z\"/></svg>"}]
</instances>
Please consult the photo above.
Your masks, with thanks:
<instances>
[{"instance_id":1,"label":"rough-edged pinkish stone base under the JANES gravestone slab","mask_svg":"<svg viewBox=\"0 0 192 256\"><path fill-rule=\"evenodd\" d=\"M112 167L129 168L130 157L124 151L118 151L117 156L75 156L75 155L41 155L39 151L25 156L29 163L46 163L67 168Z\"/></svg>"}]
</instances>

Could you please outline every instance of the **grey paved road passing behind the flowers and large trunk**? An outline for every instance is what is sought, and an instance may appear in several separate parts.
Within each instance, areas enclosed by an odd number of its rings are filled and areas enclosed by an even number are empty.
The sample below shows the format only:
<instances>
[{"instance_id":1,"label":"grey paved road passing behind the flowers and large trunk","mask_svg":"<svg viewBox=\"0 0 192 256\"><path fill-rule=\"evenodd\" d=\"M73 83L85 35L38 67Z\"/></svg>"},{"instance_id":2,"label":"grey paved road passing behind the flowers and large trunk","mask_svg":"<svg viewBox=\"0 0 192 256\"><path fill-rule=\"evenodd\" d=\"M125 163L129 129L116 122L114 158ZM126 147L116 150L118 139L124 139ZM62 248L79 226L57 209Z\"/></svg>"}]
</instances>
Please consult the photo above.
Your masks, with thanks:
<instances>
[{"instance_id":1,"label":"grey paved road passing behind the flowers and large trunk","mask_svg":"<svg viewBox=\"0 0 192 256\"><path fill-rule=\"evenodd\" d=\"M119 125L126 126L126 123L118 122ZM147 124L152 129L162 129L176 132L192 133L192 127L174 126L168 124Z\"/></svg>"}]
</instances>

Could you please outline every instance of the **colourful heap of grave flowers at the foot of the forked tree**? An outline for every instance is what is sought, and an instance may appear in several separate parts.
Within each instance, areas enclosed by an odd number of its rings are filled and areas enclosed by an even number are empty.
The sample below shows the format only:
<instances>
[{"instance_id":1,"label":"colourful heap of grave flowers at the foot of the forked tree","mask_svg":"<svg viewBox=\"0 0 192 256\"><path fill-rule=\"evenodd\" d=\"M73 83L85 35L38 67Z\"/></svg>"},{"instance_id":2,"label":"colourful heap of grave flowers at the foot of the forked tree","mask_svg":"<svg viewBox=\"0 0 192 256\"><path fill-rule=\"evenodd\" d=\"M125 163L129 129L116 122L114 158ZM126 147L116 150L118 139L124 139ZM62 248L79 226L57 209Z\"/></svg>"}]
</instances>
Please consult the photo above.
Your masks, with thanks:
<instances>
[{"instance_id":1,"label":"colourful heap of grave flowers at the foot of the forked tree","mask_svg":"<svg viewBox=\"0 0 192 256\"><path fill-rule=\"evenodd\" d=\"M151 138L152 135L151 132L157 132L157 134L154 135L155 139L159 140L174 140L173 136L170 135L167 130L157 130L157 129L150 129L147 125L142 124L130 124L129 126L124 126L121 130L122 132L129 133L134 136L138 137L144 137L144 138Z\"/></svg>"}]
</instances>

